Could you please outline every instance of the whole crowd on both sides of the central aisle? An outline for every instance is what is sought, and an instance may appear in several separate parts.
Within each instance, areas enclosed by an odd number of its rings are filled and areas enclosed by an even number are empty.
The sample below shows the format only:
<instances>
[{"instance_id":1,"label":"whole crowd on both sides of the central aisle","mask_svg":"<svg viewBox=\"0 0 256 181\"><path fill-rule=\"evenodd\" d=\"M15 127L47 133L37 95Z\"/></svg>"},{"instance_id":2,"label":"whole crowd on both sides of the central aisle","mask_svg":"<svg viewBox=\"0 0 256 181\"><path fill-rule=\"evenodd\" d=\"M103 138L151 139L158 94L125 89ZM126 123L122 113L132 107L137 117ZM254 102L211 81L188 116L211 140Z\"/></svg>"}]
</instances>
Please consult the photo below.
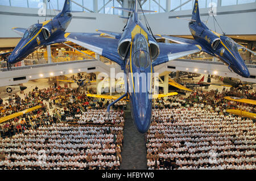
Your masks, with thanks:
<instances>
[{"instance_id":1,"label":"whole crowd on both sides of the central aisle","mask_svg":"<svg viewBox=\"0 0 256 181\"><path fill-rule=\"evenodd\" d=\"M256 169L255 123L226 112L240 105L224 96L255 99L228 90L157 99L146 134L148 169ZM119 169L126 101L106 119L111 101L67 87L0 101L0 117L42 106L0 124L0 169Z\"/></svg>"}]
</instances>

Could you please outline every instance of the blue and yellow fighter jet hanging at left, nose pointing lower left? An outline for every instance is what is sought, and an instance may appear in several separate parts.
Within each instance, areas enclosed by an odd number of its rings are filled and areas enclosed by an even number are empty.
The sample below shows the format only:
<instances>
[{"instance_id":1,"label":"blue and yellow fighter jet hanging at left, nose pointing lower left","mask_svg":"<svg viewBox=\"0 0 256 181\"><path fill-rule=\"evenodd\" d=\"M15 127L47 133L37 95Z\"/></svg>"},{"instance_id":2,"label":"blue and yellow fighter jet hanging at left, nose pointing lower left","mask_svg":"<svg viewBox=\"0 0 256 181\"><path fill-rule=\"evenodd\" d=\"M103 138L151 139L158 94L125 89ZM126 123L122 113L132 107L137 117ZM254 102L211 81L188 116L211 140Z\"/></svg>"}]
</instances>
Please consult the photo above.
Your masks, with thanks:
<instances>
[{"instance_id":1,"label":"blue and yellow fighter jet hanging at left, nose pointing lower left","mask_svg":"<svg viewBox=\"0 0 256 181\"><path fill-rule=\"evenodd\" d=\"M23 36L13 52L8 57L8 63L14 64L22 61L39 47L62 43L65 30L72 19L70 0L65 0L63 10L55 18L42 23L36 23L26 28L13 28L13 31Z\"/></svg>"}]
</instances>

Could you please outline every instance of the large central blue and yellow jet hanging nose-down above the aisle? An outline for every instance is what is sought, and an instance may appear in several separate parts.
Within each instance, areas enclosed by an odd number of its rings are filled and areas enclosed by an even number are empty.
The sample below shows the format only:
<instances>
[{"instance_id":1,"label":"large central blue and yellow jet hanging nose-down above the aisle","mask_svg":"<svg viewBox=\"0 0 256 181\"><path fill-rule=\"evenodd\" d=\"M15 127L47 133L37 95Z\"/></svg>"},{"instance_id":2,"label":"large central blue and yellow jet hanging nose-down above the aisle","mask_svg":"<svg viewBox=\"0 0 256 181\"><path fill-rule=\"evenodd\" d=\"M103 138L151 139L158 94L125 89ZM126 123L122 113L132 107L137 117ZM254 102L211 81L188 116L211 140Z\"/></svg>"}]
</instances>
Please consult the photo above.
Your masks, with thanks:
<instances>
[{"instance_id":1,"label":"large central blue and yellow jet hanging nose-down above the aisle","mask_svg":"<svg viewBox=\"0 0 256 181\"><path fill-rule=\"evenodd\" d=\"M146 133L151 123L152 98L177 94L177 92L170 92L153 95L152 73L154 73L154 66L200 52L201 47L200 45L156 42L149 26L147 25L145 28L138 19L138 13L151 11L138 9L138 6L141 7L141 3L136 0L133 1L131 9L122 9L130 12L122 33L97 30L114 37L114 39L84 36L80 33L66 33L65 37L69 41L109 58L121 66L127 78L125 85L129 89L126 89L125 94L109 104L106 118L109 117L110 106L129 94L134 124L139 132ZM141 75L141 73L144 73L145 76L143 80L139 76L135 76L135 74ZM144 81L145 79L149 81ZM144 87L150 87L150 89L143 91Z\"/></svg>"}]
</instances>

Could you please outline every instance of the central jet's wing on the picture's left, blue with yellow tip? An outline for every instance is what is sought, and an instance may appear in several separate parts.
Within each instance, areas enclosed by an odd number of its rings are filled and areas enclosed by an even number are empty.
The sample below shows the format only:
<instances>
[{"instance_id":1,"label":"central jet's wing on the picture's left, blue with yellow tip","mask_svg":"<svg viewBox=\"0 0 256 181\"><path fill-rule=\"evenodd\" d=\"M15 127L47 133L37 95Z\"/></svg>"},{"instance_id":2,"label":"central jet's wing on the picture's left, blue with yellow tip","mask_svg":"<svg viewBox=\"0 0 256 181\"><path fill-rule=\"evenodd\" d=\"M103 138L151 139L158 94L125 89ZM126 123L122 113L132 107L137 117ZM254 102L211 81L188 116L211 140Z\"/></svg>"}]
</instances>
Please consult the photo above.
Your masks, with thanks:
<instances>
[{"instance_id":1,"label":"central jet's wing on the picture's left, blue with yellow tip","mask_svg":"<svg viewBox=\"0 0 256 181\"><path fill-rule=\"evenodd\" d=\"M117 52L117 39L109 39L106 37L86 36L82 33L65 33L65 37L73 43L100 54L110 60L116 62L123 69L123 60Z\"/></svg>"}]
</instances>

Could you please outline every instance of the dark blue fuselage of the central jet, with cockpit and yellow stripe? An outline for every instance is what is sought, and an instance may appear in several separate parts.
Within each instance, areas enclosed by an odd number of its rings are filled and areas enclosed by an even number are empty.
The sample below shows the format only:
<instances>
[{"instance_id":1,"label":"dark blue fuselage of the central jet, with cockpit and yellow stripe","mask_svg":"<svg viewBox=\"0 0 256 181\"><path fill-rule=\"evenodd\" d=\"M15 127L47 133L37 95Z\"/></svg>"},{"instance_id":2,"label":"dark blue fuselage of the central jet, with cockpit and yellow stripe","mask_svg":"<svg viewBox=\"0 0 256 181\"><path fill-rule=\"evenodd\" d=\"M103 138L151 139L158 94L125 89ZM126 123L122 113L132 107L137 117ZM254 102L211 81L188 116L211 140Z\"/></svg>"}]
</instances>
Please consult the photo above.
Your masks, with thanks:
<instances>
[{"instance_id":1,"label":"dark blue fuselage of the central jet, with cockpit and yellow stripe","mask_svg":"<svg viewBox=\"0 0 256 181\"><path fill-rule=\"evenodd\" d=\"M135 127L146 133L151 123L152 73L151 54L148 41L151 34L138 21L137 13L129 19L123 38L131 38L125 57L125 74L131 102L131 111Z\"/></svg>"}]
</instances>

